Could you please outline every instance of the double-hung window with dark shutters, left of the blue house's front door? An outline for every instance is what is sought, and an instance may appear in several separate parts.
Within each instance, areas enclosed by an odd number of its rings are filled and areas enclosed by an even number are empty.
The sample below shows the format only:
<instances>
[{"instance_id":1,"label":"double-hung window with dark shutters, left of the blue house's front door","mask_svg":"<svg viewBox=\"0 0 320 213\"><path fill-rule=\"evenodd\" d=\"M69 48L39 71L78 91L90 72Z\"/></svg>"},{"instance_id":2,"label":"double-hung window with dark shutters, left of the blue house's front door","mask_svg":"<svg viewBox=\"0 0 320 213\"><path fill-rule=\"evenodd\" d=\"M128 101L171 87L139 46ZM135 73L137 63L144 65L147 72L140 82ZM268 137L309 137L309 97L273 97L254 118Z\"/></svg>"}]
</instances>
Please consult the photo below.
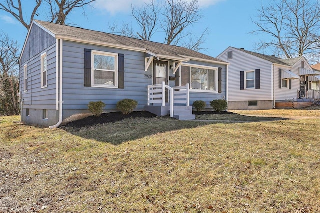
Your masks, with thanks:
<instances>
[{"instance_id":1,"label":"double-hung window with dark shutters, left of the blue house's front door","mask_svg":"<svg viewBox=\"0 0 320 213\"><path fill-rule=\"evenodd\" d=\"M118 54L92 51L92 86L117 88Z\"/></svg>"}]
</instances>

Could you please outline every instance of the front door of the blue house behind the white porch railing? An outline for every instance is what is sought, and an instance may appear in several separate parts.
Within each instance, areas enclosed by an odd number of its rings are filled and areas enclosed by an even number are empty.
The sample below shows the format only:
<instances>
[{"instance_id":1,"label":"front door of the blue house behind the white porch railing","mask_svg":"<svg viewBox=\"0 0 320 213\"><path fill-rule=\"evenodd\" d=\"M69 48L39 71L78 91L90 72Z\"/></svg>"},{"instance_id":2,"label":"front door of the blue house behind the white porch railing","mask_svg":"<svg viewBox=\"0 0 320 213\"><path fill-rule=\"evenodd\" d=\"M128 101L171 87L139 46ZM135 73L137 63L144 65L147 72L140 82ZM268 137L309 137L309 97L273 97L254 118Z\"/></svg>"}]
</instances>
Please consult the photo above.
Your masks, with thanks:
<instances>
[{"instance_id":1,"label":"front door of the blue house behind the white porch railing","mask_svg":"<svg viewBox=\"0 0 320 213\"><path fill-rule=\"evenodd\" d=\"M153 84L161 84L163 81L168 85L168 62L154 60L153 61ZM168 102L168 90L165 89L165 102Z\"/></svg>"}]
</instances>

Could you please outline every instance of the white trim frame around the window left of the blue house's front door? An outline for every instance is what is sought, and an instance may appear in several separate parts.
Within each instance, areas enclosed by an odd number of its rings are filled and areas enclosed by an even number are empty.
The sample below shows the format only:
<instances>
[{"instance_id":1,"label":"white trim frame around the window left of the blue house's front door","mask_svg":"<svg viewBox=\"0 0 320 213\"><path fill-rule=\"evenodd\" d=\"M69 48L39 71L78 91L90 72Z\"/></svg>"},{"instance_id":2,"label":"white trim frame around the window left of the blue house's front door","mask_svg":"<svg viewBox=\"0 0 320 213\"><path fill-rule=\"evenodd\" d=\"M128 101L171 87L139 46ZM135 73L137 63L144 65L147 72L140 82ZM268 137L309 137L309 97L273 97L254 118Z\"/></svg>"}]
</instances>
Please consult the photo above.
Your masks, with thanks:
<instances>
[{"instance_id":1,"label":"white trim frame around the window left of the blue house's front door","mask_svg":"<svg viewBox=\"0 0 320 213\"><path fill-rule=\"evenodd\" d=\"M114 86L94 84L94 55L95 54L114 57ZM118 58L119 58L118 53L92 50L92 52L91 52L91 85L92 85L92 87L118 88L118 73L119 73ZM109 71L112 71L112 70L109 70Z\"/></svg>"}]
</instances>

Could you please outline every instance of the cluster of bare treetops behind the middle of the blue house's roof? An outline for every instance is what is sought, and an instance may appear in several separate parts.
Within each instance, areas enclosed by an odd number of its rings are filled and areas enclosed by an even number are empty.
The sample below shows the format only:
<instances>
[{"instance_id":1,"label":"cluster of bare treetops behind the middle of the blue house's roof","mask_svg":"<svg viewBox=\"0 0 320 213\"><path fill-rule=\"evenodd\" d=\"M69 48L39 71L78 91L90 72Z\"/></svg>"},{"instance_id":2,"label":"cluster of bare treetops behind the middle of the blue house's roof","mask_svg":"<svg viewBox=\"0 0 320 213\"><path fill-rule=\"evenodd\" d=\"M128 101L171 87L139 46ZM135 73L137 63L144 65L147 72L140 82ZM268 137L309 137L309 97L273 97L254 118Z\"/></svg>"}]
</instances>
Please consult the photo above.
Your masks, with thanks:
<instances>
[{"instance_id":1,"label":"cluster of bare treetops behind the middle of the blue house's roof","mask_svg":"<svg viewBox=\"0 0 320 213\"><path fill-rule=\"evenodd\" d=\"M137 23L137 28L131 23L122 23L119 28L115 22L109 28L112 33L117 33L142 40L151 40L154 33L164 32L163 43L182 45L193 50L200 50L208 33L206 28L200 37L188 31L202 18L198 7L198 0L165 0L163 4L150 0L142 7L131 7L131 16Z\"/></svg>"}]
</instances>

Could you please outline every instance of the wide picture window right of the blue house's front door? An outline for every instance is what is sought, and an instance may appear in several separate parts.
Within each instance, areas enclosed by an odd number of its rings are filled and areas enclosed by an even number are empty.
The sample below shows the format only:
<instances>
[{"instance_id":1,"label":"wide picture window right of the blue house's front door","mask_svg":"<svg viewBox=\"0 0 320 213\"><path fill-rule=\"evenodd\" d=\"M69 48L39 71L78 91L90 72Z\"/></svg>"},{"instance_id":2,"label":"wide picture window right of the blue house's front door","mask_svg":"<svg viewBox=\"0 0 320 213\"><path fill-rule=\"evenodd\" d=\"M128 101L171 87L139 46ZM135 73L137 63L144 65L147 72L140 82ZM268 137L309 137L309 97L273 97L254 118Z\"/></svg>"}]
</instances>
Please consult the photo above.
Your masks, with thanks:
<instances>
[{"instance_id":1,"label":"wide picture window right of the blue house's front door","mask_svg":"<svg viewBox=\"0 0 320 213\"><path fill-rule=\"evenodd\" d=\"M192 91L217 92L217 69L206 66L181 66L181 85L190 84Z\"/></svg>"}]
</instances>

